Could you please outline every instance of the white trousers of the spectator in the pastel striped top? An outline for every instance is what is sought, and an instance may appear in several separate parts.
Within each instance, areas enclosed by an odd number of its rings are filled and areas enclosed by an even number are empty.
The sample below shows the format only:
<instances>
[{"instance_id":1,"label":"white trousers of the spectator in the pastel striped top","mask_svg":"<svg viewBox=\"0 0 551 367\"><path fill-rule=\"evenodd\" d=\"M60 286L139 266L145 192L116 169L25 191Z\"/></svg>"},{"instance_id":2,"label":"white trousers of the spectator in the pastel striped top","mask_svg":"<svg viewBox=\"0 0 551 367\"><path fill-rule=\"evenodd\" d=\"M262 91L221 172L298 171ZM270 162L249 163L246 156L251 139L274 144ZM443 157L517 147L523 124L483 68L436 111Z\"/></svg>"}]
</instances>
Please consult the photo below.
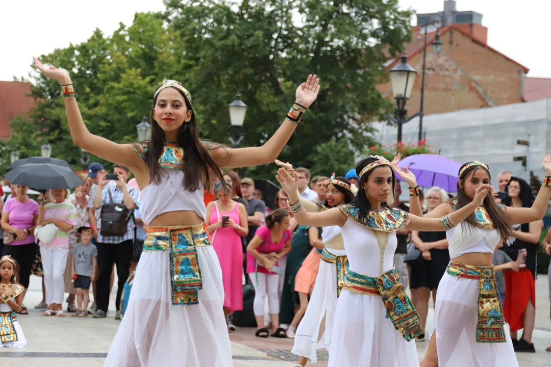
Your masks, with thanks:
<instances>
[{"instance_id":1,"label":"white trousers of the spectator in the pastel striped top","mask_svg":"<svg viewBox=\"0 0 551 367\"><path fill-rule=\"evenodd\" d=\"M63 273L67 267L68 248L40 245L42 269L44 270L44 286L46 287L46 303L62 304L65 294Z\"/></svg>"}]
</instances>

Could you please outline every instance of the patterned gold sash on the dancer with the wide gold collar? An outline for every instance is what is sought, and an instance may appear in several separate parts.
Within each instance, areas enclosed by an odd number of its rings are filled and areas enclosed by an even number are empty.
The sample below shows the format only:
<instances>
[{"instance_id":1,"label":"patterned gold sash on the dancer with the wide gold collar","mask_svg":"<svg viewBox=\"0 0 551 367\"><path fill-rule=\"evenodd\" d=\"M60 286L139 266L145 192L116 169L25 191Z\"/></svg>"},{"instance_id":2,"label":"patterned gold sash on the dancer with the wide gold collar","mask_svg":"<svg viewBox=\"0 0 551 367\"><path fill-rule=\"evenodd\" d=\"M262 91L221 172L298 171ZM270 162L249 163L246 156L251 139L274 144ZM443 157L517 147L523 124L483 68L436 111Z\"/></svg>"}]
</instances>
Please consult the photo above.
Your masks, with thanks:
<instances>
[{"instance_id":1,"label":"patterned gold sash on the dancer with the wide gold collar","mask_svg":"<svg viewBox=\"0 0 551 367\"><path fill-rule=\"evenodd\" d=\"M361 275L347 269L344 274L343 289L364 294L380 295L386 308L386 318L408 342L423 333L419 325L419 314L398 281L398 271L391 269L377 277Z\"/></svg>"}]
</instances>

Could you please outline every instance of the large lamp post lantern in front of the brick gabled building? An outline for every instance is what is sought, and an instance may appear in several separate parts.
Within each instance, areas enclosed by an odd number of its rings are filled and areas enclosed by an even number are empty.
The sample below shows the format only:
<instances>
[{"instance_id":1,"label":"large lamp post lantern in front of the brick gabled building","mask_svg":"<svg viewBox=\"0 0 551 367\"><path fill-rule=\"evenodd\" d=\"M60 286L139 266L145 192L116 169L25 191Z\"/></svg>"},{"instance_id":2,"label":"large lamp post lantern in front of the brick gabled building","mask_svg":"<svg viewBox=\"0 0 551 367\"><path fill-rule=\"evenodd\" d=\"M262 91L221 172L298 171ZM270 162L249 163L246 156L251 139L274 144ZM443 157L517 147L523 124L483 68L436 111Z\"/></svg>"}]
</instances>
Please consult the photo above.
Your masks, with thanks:
<instances>
[{"instance_id":1,"label":"large lamp post lantern in front of the brick gabled building","mask_svg":"<svg viewBox=\"0 0 551 367\"><path fill-rule=\"evenodd\" d=\"M422 115L422 112L415 113L412 117L406 119L407 109L406 102L409 100L409 96L412 94L413 84L415 82L415 75L417 71L408 65L408 57L406 54L402 54L401 61L396 67L390 70L390 81L392 84L392 94L396 100L396 118L391 114L387 114L386 118L391 120L398 126L398 144L402 141L402 125L414 119L417 116Z\"/></svg>"}]
</instances>

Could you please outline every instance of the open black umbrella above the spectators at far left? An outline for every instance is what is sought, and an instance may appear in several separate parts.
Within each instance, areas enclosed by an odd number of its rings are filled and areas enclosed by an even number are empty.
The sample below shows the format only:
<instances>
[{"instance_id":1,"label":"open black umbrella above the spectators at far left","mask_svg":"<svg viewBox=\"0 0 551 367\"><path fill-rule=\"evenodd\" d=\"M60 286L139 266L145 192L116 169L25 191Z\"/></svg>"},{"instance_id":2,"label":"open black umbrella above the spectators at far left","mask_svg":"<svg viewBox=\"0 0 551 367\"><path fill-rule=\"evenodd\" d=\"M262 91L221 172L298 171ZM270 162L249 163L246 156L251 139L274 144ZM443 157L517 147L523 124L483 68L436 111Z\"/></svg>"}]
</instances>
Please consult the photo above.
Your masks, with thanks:
<instances>
[{"instance_id":1,"label":"open black umbrella above the spectators at far left","mask_svg":"<svg viewBox=\"0 0 551 367\"><path fill-rule=\"evenodd\" d=\"M84 184L70 167L52 163L26 163L13 167L6 179L14 185L23 185L35 190L72 189Z\"/></svg>"}]
</instances>

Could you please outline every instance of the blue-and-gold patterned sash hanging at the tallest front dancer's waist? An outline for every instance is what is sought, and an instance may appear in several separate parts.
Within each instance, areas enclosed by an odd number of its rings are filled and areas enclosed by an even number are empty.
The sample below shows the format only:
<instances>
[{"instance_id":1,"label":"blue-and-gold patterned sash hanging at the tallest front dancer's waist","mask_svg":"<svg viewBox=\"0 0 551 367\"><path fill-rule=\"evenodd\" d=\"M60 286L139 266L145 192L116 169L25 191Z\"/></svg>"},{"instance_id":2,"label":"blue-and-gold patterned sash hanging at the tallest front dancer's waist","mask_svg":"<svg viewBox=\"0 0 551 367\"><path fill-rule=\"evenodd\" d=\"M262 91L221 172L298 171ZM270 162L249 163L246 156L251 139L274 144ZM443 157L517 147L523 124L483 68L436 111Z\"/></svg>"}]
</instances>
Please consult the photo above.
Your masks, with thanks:
<instances>
[{"instance_id":1,"label":"blue-and-gold patterned sash hanging at the tallest front dancer's waist","mask_svg":"<svg viewBox=\"0 0 551 367\"><path fill-rule=\"evenodd\" d=\"M198 304L203 288L197 247L210 245L206 224L149 227L143 251L170 251L170 284L173 305Z\"/></svg>"}]
</instances>

